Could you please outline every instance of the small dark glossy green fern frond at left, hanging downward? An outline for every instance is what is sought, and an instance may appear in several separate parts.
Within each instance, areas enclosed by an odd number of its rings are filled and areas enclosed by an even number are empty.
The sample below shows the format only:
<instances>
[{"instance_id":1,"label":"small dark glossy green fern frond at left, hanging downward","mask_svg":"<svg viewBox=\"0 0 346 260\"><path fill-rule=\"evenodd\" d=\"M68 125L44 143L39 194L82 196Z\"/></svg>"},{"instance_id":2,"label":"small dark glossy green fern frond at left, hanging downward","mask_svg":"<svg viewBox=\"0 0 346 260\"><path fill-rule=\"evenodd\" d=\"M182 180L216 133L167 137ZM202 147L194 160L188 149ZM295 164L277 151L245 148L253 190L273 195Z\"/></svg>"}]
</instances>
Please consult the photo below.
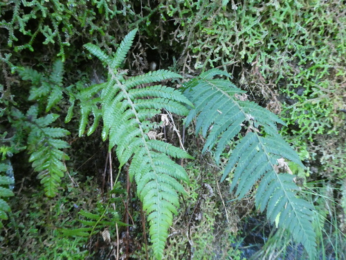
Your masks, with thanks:
<instances>
[{"instance_id":1,"label":"small dark glossy green fern frond at left, hanging downward","mask_svg":"<svg viewBox=\"0 0 346 260\"><path fill-rule=\"evenodd\" d=\"M37 118L37 105L30 107L26 116L19 110L13 110L12 114L17 117L13 125L17 129L27 130L27 150L30 153L29 162L39 174L37 178L44 185L46 196L54 197L57 188L60 187L61 178L64 177L66 166L64 161L69 159L62 149L69 148L66 141L60 139L69 135L68 130L49 127L59 116L47 114Z\"/></svg>"}]
</instances>

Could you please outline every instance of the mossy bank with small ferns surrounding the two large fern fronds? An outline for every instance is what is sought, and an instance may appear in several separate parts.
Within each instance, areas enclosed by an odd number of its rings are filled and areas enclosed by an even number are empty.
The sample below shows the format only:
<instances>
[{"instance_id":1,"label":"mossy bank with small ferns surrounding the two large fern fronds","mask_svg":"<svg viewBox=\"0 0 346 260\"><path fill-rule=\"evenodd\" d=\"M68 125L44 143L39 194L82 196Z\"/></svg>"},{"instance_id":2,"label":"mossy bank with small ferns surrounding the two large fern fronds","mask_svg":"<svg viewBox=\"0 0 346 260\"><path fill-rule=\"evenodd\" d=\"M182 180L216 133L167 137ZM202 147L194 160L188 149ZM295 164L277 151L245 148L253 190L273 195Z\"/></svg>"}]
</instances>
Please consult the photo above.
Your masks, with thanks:
<instances>
[{"instance_id":1,"label":"mossy bank with small ferns surrounding the two large fern fronds","mask_svg":"<svg viewBox=\"0 0 346 260\"><path fill-rule=\"evenodd\" d=\"M120 259L151 255L134 185L124 171L122 185L113 187L118 199L107 199L111 168L119 162L100 129L80 137L78 113L84 112L71 105L71 93L80 103L88 100L76 89L107 79L102 62L83 45L111 53L134 28L138 33L122 65L131 76L154 64L185 79L223 69L249 100L280 116L287 125L280 132L307 167L289 165L315 207L318 259L346 259L344 1L7 0L0 8L0 170L15 178L14 187L8 178L1 183L7 187L0 196L11 209L3 206L0 215L2 259L116 259L117 248ZM93 128L89 112L84 129ZM165 259L307 259L283 230L266 223L251 193L237 200L219 183L233 144L220 164L212 164L211 154L200 154L203 137L169 116L161 136L179 146L174 128L184 132L196 160L181 162L191 181ZM46 137L33 130L50 127L55 130ZM44 162L35 154L47 139L60 156L51 157L60 162L54 166L60 177L49 189L39 168ZM109 213L112 203L116 214ZM80 236L69 236L75 229Z\"/></svg>"}]
</instances>

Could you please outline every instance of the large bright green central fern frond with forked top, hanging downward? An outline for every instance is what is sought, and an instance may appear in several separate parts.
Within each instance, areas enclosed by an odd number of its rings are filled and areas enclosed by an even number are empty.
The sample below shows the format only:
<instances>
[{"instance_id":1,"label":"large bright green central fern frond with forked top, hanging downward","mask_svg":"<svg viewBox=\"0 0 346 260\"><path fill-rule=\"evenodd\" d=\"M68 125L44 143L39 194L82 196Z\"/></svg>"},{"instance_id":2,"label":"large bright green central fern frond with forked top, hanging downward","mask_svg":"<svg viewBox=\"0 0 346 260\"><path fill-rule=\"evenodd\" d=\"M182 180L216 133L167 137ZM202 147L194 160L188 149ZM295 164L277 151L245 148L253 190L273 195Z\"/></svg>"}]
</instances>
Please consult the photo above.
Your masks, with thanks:
<instances>
[{"instance_id":1,"label":"large bright green central fern frond with forked top, hanging downward","mask_svg":"<svg viewBox=\"0 0 346 260\"><path fill-rule=\"evenodd\" d=\"M192 158L185 151L163 141L149 139L149 130L158 128L150 121L162 109L185 115L192 105L181 92L162 85L136 88L169 78L181 78L176 73L158 70L128 78L119 69L136 35L131 31L121 42L114 55L107 55L98 46L84 47L98 57L108 68L108 80L102 85L101 110L102 139L109 139L109 149L116 146L119 168L131 161L130 180L135 180L137 193L147 212L149 234L156 259L161 259L172 225L173 214L179 206L179 193L185 193L180 181L188 182L185 170L173 158Z\"/></svg>"}]
</instances>

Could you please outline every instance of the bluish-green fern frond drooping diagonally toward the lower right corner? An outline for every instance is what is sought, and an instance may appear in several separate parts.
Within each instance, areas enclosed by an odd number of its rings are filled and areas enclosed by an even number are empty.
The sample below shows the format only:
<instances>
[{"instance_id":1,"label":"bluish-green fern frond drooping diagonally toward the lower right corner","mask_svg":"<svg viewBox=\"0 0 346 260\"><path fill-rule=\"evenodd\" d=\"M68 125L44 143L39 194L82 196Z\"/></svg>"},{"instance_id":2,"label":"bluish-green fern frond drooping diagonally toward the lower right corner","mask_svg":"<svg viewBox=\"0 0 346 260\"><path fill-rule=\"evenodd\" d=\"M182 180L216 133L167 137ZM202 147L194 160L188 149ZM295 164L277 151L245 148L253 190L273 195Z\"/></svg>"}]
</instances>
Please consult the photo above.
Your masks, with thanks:
<instances>
[{"instance_id":1,"label":"bluish-green fern frond drooping diagonally toward the lower right corner","mask_svg":"<svg viewBox=\"0 0 346 260\"><path fill-rule=\"evenodd\" d=\"M266 215L273 223L288 229L293 239L302 243L311 259L316 256L316 234L311 220L313 206L298 198L298 187L294 175L277 173L278 159L286 159L299 164L298 155L277 133L276 123L282 123L275 114L259 105L246 101L244 91L238 89L229 80L214 76L230 76L217 69L202 73L199 78L185 85L185 96L194 103L186 123L197 118L196 132L201 130L206 137L203 152L215 148L215 158L219 157L226 145L248 125L244 138L228 159L224 175L234 170L230 191L237 187L235 194L243 198L260 181L255 193L255 205L260 211L266 209Z\"/></svg>"}]
</instances>

